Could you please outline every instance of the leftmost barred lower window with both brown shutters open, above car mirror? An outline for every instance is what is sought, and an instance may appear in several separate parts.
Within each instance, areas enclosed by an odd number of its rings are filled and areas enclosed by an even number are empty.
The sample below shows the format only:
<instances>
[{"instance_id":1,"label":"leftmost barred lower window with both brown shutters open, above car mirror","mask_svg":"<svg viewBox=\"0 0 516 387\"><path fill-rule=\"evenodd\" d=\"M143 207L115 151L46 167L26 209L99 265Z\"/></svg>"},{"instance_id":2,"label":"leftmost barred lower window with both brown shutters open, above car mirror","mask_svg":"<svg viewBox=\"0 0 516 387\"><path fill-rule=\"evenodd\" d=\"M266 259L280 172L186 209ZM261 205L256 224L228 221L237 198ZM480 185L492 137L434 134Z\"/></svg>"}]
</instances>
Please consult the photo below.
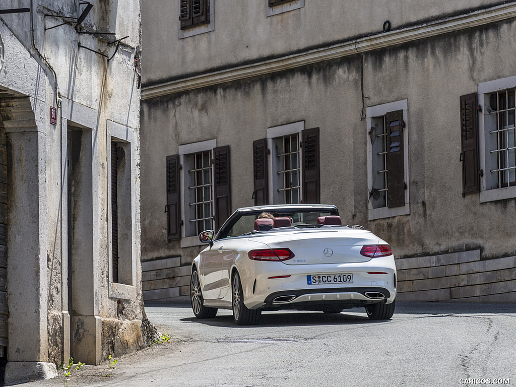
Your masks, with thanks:
<instances>
[{"instance_id":1,"label":"leftmost barred lower window with both brown shutters open, above car mirror","mask_svg":"<svg viewBox=\"0 0 516 387\"><path fill-rule=\"evenodd\" d=\"M196 245L202 231L220 228L231 215L229 147L216 145L216 140L185 144L167 157L169 240L192 237Z\"/></svg>"}]
</instances>

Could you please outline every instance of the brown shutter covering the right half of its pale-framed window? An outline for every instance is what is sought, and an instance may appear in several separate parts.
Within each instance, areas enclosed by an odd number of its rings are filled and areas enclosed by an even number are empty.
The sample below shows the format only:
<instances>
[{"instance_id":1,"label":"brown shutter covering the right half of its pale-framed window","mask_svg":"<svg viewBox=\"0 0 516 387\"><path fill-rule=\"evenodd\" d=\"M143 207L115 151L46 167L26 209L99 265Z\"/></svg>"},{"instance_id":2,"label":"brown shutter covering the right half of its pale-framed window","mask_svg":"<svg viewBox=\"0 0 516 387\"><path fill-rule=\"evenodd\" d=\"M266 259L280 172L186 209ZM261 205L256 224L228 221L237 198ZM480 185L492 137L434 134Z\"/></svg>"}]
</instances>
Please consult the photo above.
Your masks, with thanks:
<instances>
[{"instance_id":1,"label":"brown shutter covering the right half of its pale-framed window","mask_svg":"<svg viewBox=\"0 0 516 387\"><path fill-rule=\"evenodd\" d=\"M405 152L403 110L386 114L387 207L405 205Z\"/></svg>"}]
</instances>

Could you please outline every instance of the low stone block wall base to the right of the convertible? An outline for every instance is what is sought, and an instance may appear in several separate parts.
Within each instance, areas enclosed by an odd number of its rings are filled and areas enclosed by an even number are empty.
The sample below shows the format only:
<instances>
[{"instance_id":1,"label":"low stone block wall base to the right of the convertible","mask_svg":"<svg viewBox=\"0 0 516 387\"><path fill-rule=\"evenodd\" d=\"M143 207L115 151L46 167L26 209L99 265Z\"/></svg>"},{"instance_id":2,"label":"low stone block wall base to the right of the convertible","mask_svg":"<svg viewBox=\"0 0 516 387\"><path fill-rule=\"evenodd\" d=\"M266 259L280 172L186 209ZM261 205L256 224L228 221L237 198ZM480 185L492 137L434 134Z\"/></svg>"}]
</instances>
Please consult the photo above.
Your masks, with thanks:
<instances>
[{"instance_id":1,"label":"low stone block wall base to the right of the convertible","mask_svg":"<svg viewBox=\"0 0 516 387\"><path fill-rule=\"evenodd\" d=\"M516 302L516 256L480 260L480 250L396 260L400 302Z\"/></svg>"}]
</instances>

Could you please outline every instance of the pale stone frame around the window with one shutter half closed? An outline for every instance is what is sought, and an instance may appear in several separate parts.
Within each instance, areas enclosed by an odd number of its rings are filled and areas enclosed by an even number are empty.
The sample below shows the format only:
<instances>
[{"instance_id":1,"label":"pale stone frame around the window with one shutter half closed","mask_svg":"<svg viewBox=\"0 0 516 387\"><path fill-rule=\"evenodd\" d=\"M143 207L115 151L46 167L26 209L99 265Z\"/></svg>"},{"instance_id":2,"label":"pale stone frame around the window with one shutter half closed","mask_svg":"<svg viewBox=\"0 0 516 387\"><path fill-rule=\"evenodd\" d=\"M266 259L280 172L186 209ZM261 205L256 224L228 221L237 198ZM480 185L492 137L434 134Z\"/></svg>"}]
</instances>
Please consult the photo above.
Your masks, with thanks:
<instances>
[{"instance_id":1,"label":"pale stone frame around the window with one shutter half closed","mask_svg":"<svg viewBox=\"0 0 516 387\"><path fill-rule=\"evenodd\" d=\"M375 119L383 118L388 112L397 110L403 111L403 120L405 121L405 128L403 131L403 152L404 152L404 179L406 184L405 189L405 205L399 207L388 207L387 201L383 207L373 207L373 202L370 200L369 192L373 189L373 146L369 137L369 130L374 124ZM383 118L383 120L385 120ZM410 214L410 192L409 192L409 132L408 132L408 100L400 100L389 102L381 105L370 106L366 108L366 141L367 141L367 208L368 219L382 219L390 218L399 215Z\"/></svg>"}]
</instances>

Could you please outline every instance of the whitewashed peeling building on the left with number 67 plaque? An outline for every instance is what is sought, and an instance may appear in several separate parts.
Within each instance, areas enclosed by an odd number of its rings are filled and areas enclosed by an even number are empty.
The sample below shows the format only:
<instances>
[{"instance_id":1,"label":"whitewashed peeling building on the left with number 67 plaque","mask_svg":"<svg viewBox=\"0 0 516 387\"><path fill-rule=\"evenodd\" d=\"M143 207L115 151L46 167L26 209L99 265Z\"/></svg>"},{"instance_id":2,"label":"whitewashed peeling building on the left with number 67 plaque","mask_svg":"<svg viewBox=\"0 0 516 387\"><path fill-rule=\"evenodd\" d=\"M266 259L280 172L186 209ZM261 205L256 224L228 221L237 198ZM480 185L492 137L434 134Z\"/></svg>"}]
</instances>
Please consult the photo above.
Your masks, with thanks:
<instances>
[{"instance_id":1,"label":"whitewashed peeling building on the left with number 67 plaque","mask_svg":"<svg viewBox=\"0 0 516 387\"><path fill-rule=\"evenodd\" d=\"M3 0L0 36L0 354L11 384L144 345L140 0Z\"/></svg>"}]
</instances>

